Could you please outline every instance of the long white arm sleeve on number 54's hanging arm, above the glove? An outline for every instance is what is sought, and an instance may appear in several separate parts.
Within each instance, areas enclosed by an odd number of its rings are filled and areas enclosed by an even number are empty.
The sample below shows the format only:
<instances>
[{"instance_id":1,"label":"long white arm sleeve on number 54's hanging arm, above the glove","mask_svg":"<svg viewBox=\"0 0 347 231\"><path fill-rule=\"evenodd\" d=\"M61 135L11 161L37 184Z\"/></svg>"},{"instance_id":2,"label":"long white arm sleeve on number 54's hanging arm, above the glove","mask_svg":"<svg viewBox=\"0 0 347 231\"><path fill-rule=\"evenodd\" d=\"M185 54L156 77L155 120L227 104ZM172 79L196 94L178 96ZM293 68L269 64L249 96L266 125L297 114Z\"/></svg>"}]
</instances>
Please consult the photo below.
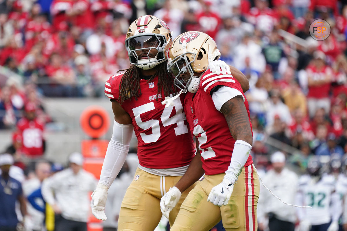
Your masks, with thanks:
<instances>
[{"instance_id":1,"label":"long white arm sleeve on number 54's hanging arm, above the glove","mask_svg":"<svg viewBox=\"0 0 347 231\"><path fill-rule=\"evenodd\" d=\"M133 135L132 124L113 123L112 138L107 147L104 163L102 164L99 183L109 188L124 165Z\"/></svg>"}]
</instances>

